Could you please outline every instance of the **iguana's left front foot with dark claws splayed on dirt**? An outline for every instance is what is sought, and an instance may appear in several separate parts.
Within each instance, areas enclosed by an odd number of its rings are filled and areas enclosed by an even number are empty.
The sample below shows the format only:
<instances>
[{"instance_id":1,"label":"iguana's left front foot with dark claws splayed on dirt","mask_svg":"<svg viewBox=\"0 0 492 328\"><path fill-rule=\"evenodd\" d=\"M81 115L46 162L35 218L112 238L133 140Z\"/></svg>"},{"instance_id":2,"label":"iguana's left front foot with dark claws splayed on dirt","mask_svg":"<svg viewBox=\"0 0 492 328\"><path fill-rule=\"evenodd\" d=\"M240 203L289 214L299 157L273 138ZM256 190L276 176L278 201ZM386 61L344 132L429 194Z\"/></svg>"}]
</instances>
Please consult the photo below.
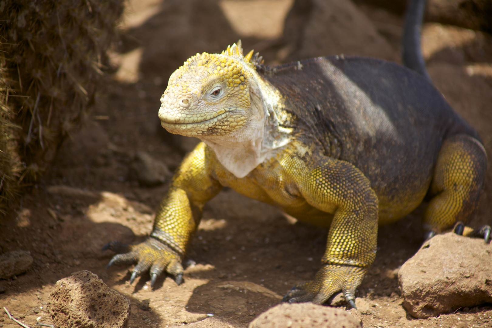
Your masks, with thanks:
<instances>
[{"instance_id":1,"label":"iguana's left front foot with dark claws splayed on dirt","mask_svg":"<svg viewBox=\"0 0 492 328\"><path fill-rule=\"evenodd\" d=\"M119 241L112 241L106 244L102 250L110 249L117 253L113 256L106 268L113 264L138 264L133 268L130 277L130 284L136 277L150 268L151 287L154 287L155 280L166 270L167 273L174 275L175 281L180 285L183 281L183 266L181 257L170 247L152 237L137 245L126 245Z\"/></svg>"}]
</instances>

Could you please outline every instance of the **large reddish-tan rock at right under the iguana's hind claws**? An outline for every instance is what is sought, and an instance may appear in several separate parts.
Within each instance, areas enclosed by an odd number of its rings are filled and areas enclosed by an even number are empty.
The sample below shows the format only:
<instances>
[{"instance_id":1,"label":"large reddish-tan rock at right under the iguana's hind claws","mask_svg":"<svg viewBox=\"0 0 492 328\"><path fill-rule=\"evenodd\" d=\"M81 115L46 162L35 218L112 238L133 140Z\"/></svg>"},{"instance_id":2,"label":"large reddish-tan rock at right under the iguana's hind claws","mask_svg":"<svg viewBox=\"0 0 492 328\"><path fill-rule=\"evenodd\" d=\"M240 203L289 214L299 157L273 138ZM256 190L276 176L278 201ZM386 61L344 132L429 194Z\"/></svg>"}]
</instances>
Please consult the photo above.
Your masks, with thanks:
<instances>
[{"instance_id":1,"label":"large reddish-tan rock at right under the iguana's hind claws","mask_svg":"<svg viewBox=\"0 0 492 328\"><path fill-rule=\"evenodd\" d=\"M425 242L401 266L403 306L417 318L492 302L492 246L447 233Z\"/></svg>"}]
</instances>

